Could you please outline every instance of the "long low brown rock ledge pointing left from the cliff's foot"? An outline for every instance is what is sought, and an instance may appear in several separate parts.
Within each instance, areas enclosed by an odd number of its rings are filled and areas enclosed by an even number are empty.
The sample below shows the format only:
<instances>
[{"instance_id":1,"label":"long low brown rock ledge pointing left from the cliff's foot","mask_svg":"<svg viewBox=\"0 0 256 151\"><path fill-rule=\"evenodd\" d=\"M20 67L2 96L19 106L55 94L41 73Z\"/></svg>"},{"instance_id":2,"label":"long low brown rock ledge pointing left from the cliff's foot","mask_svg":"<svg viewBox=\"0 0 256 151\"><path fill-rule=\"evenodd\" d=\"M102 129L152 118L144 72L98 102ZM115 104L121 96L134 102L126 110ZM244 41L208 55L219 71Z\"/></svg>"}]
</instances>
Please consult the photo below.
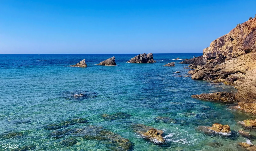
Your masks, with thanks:
<instances>
[{"instance_id":1,"label":"long low brown rock ledge pointing left from the cliff's foot","mask_svg":"<svg viewBox=\"0 0 256 151\"><path fill-rule=\"evenodd\" d=\"M216 93L209 93L209 94L192 95L191 97L204 99L204 100L219 101L223 103L237 102L237 100L235 99L235 94L232 94L229 92L216 92Z\"/></svg>"}]
</instances>

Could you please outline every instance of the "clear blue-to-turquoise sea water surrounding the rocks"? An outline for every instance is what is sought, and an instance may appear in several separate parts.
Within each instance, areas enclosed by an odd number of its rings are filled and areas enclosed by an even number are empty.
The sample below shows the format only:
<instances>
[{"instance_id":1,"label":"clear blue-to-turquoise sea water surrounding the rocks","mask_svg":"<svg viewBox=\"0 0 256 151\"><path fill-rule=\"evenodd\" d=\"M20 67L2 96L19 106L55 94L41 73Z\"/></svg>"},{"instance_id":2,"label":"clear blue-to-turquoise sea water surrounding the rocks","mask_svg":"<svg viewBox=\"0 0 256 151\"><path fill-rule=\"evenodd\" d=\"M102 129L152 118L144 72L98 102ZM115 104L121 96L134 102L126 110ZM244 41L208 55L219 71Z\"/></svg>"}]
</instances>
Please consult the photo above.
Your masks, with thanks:
<instances>
[{"instance_id":1,"label":"clear blue-to-turquoise sea water surrounding the rocks","mask_svg":"<svg viewBox=\"0 0 256 151\"><path fill-rule=\"evenodd\" d=\"M120 150L116 145L99 139L85 139L80 135L51 136L55 130L48 124L76 118L77 123L59 130L103 126L129 139L132 150L242 150L237 143L246 141L237 131L243 127L237 122L253 115L230 110L229 105L201 101L193 94L237 90L231 86L201 80L192 80L187 64L163 67L173 60L201 54L154 54L153 64L126 63L137 54L40 54L0 55L0 144L19 144L34 150ZM118 66L95 64L116 57ZM70 67L86 59L87 68ZM174 73L180 71L180 73ZM178 77L182 75L183 77ZM83 93L84 97L73 97ZM107 120L101 115L124 112L131 117ZM176 122L156 120L169 117ZM232 136L207 135L198 126L214 123L229 124ZM164 144L144 140L131 128L145 124L163 130ZM247 130L255 134L253 130ZM22 136L5 137L13 132ZM97 132L94 132L97 133ZM63 145L61 141L74 136L77 141ZM94 135L94 134L93 134ZM252 143L256 141L251 140ZM30 149L30 148L26 148ZM5 150L0 146L0 150Z\"/></svg>"}]
</instances>

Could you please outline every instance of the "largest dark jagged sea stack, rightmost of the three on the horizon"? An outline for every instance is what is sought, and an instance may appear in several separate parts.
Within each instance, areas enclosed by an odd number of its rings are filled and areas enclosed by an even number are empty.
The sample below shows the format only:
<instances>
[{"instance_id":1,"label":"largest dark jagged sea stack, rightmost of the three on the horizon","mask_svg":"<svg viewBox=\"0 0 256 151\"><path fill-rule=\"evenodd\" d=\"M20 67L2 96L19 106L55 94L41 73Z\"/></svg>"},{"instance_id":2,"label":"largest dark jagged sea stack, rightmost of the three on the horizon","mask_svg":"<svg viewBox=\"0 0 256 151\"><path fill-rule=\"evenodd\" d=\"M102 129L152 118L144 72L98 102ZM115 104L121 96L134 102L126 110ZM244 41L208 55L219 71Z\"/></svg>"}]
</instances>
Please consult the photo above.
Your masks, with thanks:
<instances>
[{"instance_id":1,"label":"largest dark jagged sea stack, rightmost of the three on the horizon","mask_svg":"<svg viewBox=\"0 0 256 151\"><path fill-rule=\"evenodd\" d=\"M133 57L128 63L154 63L156 61L153 58L153 53L143 53Z\"/></svg>"}]
</instances>

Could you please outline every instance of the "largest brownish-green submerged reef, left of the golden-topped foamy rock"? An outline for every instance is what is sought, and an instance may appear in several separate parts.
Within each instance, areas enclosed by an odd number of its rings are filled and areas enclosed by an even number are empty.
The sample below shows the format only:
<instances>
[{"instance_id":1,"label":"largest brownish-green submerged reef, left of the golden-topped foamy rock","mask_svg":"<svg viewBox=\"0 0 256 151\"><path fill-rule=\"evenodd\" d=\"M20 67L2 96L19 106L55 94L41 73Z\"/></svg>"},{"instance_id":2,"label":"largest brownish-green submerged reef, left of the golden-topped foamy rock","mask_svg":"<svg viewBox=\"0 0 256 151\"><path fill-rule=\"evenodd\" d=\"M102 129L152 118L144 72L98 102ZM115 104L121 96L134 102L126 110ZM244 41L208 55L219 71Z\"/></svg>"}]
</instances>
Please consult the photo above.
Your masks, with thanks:
<instances>
[{"instance_id":1,"label":"largest brownish-green submerged reef, left of the golden-topped foamy rock","mask_svg":"<svg viewBox=\"0 0 256 151\"><path fill-rule=\"evenodd\" d=\"M102 126L87 125L82 128L54 131L51 133L51 136L55 138L64 137L66 135L82 137L84 140L97 140L107 148L116 151L128 151L133 147L133 143L130 140L112 131L104 129ZM65 142L67 142L67 145L75 144L75 141L71 139L68 139ZM64 142L62 141L62 143Z\"/></svg>"}]
</instances>

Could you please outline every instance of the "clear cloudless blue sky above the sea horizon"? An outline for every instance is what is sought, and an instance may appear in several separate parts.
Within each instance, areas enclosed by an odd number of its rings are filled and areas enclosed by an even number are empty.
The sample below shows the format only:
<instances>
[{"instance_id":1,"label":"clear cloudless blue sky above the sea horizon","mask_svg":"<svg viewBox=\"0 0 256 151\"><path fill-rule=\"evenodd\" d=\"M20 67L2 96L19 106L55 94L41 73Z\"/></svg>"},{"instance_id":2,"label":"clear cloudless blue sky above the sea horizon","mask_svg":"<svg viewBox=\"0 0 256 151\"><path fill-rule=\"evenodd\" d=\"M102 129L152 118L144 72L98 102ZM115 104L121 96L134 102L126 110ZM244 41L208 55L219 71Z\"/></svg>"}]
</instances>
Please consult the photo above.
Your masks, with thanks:
<instances>
[{"instance_id":1,"label":"clear cloudless blue sky above the sea horizon","mask_svg":"<svg viewBox=\"0 0 256 151\"><path fill-rule=\"evenodd\" d=\"M202 53L255 0L1 0L0 53Z\"/></svg>"}]
</instances>

